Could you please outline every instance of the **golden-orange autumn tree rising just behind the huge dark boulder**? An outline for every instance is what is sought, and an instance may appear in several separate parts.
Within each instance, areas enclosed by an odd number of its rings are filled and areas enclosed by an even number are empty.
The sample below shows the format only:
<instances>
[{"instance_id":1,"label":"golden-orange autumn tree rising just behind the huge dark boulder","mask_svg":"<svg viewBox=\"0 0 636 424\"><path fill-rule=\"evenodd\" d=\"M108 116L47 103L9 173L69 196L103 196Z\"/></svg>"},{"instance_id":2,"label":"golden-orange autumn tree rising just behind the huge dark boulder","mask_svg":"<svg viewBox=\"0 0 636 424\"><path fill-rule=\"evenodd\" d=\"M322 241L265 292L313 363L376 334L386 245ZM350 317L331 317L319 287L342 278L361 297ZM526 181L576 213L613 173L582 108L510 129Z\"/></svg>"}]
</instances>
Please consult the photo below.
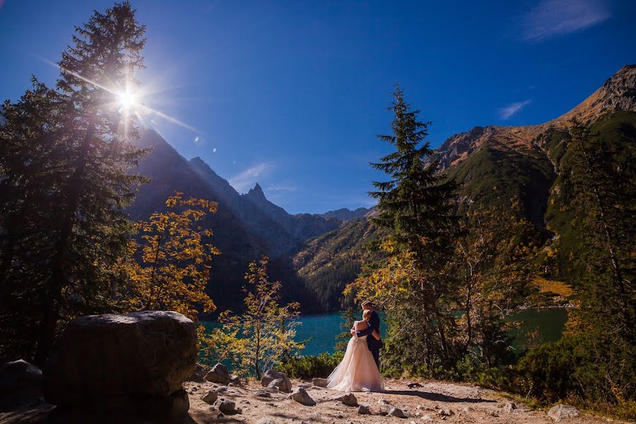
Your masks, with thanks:
<instances>
[{"instance_id":1,"label":"golden-orange autumn tree rising just behind the huge dark boulder","mask_svg":"<svg viewBox=\"0 0 636 424\"><path fill-rule=\"evenodd\" d=\"M220 252L205 242L211 230L200 221L215 213L217 204L205 199L170 196L167 211L136 223L137 237L117 272L122 279L124 310L172 310L196 320L199 312L216 309L206 293L212 256Z\"/></svg>"}]
</instances>

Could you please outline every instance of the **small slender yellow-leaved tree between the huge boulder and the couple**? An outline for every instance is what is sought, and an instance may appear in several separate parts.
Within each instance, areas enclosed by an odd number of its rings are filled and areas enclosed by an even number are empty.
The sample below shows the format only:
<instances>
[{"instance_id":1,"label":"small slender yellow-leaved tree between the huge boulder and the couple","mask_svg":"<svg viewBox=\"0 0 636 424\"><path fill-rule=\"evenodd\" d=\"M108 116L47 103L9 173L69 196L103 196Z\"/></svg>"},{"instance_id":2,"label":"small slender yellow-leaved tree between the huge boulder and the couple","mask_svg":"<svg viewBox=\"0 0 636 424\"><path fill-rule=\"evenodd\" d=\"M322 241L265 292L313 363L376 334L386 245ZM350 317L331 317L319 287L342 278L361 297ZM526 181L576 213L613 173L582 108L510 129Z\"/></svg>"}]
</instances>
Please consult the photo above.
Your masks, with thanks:
<instances>
[{"instance_id":1,"label":"small slender yellow-leaved tree between the huge boulder and the couple","mask_svg":"<svg viewBox=\"0 0 636 424\"><path fill-rule=\"evenodd\" d=\"M245 274L245 312L225 311L220 326L205 335L201 328L201 350L208 360L228 360L243 375L260 379L266 370L302 349L294 341L298 322L297 302L280 305L280 281L269 281L267 257L249 264Z\"/></svg>"}]
</instances>

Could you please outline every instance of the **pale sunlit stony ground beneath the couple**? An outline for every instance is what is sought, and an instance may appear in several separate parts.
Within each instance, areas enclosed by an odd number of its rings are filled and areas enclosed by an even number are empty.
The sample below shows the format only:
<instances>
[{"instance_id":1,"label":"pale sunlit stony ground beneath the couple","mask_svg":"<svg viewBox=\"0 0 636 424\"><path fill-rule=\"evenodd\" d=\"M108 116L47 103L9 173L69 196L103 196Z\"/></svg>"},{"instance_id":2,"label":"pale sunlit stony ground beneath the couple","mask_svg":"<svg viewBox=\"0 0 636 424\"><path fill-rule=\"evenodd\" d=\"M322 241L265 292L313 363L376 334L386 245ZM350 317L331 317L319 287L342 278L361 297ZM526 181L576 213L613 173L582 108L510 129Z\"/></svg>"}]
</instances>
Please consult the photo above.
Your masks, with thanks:
<instances>
[{"instance_id":1,"label":"pale sunlit stony ground beneath the couple","mask_svg":"<svg viewBox=\"0 0 636 424\"><path fill-rule=\"evenodd\" d=\"M404 380L387 380L384 393L355 393L358 404L368 406L371 415L358 413L358 406L347 406L334 401L341 393L315 387L311 383L292 381L293 387L305 387L315 406L304 406L289 394L265 389L258 382L242 387L223 387L209 382L187 382L189 416L194 423L554 423L546 411L531 409L525 404L511 402L494 391L468 384L421 382L421 387L409 388ZM235 402L241 413L227 415L201 398L208 391L218 391L219 399ZM269 393L264 395L263 391ZM257 396L261 394L261 397ZM384 401L383 401L384 399ZM218 404L218 402L217 402ZM387 416L391 406L404 412L406 418ZM568 424L606 423L608 419L579 413L575 418L564 418Z\"/></svg>"}]
</instances>

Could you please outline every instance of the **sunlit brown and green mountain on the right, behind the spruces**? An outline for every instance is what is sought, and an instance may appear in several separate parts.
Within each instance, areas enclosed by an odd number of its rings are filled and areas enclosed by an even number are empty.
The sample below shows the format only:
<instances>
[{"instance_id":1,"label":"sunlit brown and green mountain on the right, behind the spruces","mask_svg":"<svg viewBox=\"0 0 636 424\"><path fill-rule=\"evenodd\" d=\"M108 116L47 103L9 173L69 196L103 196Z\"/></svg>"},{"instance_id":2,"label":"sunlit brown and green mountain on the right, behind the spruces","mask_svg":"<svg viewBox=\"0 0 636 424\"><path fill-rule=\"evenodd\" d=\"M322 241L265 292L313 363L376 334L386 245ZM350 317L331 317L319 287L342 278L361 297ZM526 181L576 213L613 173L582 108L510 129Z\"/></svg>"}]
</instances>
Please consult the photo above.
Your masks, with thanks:
<instances>
[{"instance_id":1,"label":"sunlit brown and green mountain on the right, behind the spruces","mask_svg":"<svg viewBox=\"0 0 636 424\"><path fill-rule=\"evenodd\" d=\"M636 160L636 66L623 66L598 90L574 109L545 124L526 126L475 126L449 137L431 158L440 160L441 170L460 184L459 212L477 205L506 207L516 197L522 213L553 240L556 252L553 278L576 284L579 270L570 257L582 249L577 245L572 219L572 182L564 164L568 160L568 122L577 118L620 152L609 158L617 166ZM621 162L622 161L622 162ZM623 165L621 165L623 163ZM340 228L305 242L294 264L307 286L325 308L343 302L338 293L358 275L366 260L360 249L377 239L378 231L367 218L344 223Z\"/></svg>"}]
</instances>

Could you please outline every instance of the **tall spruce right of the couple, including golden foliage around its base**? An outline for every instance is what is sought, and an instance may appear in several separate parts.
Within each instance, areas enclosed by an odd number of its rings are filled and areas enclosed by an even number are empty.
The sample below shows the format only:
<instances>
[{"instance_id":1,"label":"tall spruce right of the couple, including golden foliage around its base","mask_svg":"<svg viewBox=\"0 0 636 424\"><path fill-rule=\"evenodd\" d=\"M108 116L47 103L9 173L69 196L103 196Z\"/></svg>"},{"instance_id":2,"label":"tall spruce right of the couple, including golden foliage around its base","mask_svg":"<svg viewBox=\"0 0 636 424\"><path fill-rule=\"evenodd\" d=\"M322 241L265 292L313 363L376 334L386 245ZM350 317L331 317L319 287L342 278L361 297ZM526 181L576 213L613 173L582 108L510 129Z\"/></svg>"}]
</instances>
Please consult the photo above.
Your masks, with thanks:
<instances>
[{"instance_id":1,"label":"tall spruce right of the couple, including golden foliage around its base","mask_svg":"<svg viewBox=\"0 0 636 424\"><path fill-rule=\"evenodd\" d=\"M347 293L375 298L389 315L384 364L401 370L438 375L456 362L453 346L457 325L449 312L449 279L444 263L452 252L456 184L439 172L439 162L426 137L429 122L411 109L396 85L391 135L379 139L395 148L372 166L389 176L375 182L379 213L376 225L387 228L384 247L389 259L350 285Z\"/></svg>"}]
</instances>

